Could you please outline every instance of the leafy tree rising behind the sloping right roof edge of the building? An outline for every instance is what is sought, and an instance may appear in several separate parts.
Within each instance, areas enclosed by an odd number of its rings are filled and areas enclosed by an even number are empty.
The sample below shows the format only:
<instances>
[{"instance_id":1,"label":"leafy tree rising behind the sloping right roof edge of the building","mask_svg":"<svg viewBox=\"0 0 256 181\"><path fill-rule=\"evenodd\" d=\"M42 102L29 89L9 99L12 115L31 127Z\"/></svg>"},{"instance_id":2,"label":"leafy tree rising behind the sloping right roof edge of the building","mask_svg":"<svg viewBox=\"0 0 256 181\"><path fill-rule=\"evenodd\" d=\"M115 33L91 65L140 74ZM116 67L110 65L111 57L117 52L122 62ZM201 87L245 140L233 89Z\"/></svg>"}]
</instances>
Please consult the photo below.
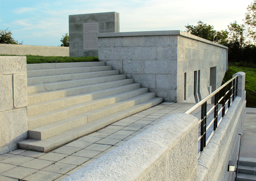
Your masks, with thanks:
<instances>
[{"instance_id":1,"label":"leafy tree rising behind the sloping right roof edge of the building","mask_svg":"<svg viewBox=\"0 0 256 181\"><path fill-rule=\"evenodd\" d=\"M227 46L227 44L228 44L228 31L227 30L216 31L213 29L214 28L213 26L203 24L203 22L201 22L201 21L197 22L197 26L187 25L185 27L187 28L186 32L190 33L192 35L196 35L198 37L216 42L216 43L224 45L224 46Z\"/></svg>"}]
</instances>

